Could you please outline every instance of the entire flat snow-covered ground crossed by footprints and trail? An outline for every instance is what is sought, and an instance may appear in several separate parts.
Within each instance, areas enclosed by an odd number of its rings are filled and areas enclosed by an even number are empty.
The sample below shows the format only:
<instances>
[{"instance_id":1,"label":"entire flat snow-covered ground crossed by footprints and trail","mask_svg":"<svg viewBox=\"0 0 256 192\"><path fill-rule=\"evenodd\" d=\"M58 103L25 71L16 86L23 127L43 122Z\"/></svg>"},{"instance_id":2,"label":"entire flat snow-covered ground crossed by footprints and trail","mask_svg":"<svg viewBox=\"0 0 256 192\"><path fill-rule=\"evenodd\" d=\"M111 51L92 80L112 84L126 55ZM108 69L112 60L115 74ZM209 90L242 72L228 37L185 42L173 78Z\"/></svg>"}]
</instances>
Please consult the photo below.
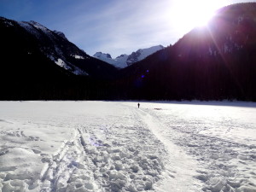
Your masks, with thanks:
<instances>
[{"instance_id":1,"label":"entire flat snow-covered ground crossed by footprints and trail","mask_svg":"<svg viewBox=\"0 0 256 192\"><path fill-rule=\"evenodd\" d=\"M0 102L0 191L256 191L256 103Z\"/></svg>"}]
</instances>

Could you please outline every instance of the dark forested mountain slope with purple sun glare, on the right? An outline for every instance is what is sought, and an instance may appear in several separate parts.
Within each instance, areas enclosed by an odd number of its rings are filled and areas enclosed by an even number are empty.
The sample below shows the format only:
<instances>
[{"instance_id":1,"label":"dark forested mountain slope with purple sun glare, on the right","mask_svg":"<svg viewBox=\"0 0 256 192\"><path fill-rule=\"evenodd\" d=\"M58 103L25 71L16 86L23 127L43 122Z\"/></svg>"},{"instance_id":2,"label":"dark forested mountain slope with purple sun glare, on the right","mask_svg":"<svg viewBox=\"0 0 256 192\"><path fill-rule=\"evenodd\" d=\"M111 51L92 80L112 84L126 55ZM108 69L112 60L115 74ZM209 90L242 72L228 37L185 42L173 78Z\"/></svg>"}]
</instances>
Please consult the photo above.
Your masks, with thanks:
<instances>
[{"instance_id":1,"label":"dark forested mountain slope with purple sun glare, on the right","mask_svg":"<svg viewBox=\"0 0 256 192\"><path fill-rule=\"evenodd\" d=\"M256 101L256 3L219 9L205 27L120 73L120 97Z\"/></svg>"}]
</instances>

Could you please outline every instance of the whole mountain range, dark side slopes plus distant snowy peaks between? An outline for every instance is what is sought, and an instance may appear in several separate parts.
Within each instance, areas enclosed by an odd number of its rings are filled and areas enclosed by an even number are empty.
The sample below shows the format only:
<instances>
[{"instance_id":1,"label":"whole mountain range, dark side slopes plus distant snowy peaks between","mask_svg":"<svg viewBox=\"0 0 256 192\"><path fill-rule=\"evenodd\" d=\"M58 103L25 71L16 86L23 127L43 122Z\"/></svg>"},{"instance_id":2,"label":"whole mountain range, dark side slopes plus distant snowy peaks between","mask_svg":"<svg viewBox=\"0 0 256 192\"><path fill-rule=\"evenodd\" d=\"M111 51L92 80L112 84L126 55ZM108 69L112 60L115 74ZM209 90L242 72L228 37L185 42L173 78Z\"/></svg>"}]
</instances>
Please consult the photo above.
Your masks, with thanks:
<instances>
[{"instance_id":1,"label":"whole mountain range, dark side slopes plus distant snowy peaks between","mask_svg":"<svg viewBox=\"0 0 256 192\"><path fill-rule=\"evenodd\" d=\"M143 49L129 60L95 55L122 65L87 55L62 32L35 21L0 18L0 99L255 102L255 18L256 3L233 4L219 9L207 26L146 58L140 57Z\"/></svg>"}]
</instances>

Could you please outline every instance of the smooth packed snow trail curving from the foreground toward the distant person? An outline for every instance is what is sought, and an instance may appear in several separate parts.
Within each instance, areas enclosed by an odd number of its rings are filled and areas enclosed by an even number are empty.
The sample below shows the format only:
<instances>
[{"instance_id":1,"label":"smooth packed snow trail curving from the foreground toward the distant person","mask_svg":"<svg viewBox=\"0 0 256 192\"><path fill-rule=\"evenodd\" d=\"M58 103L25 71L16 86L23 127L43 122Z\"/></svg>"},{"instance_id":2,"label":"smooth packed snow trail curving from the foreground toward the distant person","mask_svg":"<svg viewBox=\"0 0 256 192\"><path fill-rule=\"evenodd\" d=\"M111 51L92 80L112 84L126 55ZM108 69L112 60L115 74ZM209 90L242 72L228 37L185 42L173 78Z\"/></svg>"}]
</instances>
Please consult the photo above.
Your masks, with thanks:
<instances>
[{"instance_id":1,"label":"smooth packed snow trail curving from the foreground toward the distant person","mask_svg":"<svg viewBox=\"0 0 256 192\"><path fill-rule=\"evenodd\" d=\"M167 153L165 157L166 172L163 175L163 181L157 191L201 191L200 183L195 179L196 162L182 148L172 143L168 135L164 135L163 131L168 129L159 119L147 113L147 110L141 109L137 111L138 117L143 119L148 129L164 144ZM172 136L178 135L177 131L170 132ZM169 133L169 134L170 134ZM169 176L169 177L168 177Z\"/></svg>"}]
</instances>

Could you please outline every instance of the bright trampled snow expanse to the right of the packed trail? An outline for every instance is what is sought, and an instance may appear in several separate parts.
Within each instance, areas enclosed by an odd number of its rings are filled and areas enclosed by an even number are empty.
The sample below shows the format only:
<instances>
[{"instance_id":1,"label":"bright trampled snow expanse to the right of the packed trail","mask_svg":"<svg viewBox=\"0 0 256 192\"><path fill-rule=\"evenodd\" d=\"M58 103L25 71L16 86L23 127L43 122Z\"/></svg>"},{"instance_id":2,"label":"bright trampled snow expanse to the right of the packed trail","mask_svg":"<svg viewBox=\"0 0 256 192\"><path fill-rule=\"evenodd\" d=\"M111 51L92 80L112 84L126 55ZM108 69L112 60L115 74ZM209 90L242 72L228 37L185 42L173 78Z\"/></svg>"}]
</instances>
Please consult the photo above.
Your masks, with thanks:
<instances>
[{"instance_id":1,"label":"bright trampled snow expanse to the right of the packed trail","mask_svg":"<svg viewBox=\"0 0 256 192\"><path fill-rule=\"evenodd\" d=\"M201 102L195 108L193 102L174 103L170 109L155 103L157 110L151 110L146 103L142 110L168 127L158 129L161 137L194 157L195 178L203 183L203 191L256 191L256 105L214 104Z\"/></svg>"}]
</instances>

